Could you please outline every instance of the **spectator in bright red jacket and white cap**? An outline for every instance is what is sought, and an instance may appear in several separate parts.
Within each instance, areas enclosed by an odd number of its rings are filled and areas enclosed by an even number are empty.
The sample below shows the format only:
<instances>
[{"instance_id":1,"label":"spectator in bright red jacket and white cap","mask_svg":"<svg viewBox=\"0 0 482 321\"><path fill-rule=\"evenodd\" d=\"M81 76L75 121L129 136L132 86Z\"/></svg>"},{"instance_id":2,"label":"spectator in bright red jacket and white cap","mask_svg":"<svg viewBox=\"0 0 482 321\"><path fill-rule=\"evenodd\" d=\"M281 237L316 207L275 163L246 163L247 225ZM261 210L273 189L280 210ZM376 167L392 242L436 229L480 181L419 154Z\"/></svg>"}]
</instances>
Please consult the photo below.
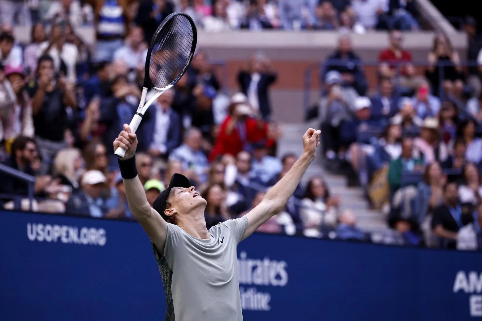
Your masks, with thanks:
<instances>
[{"instance_id":1,"label":"spectator in bright red jacket and white cap","mask_svg":"<svg viewBox=\"0 0 482 321\"><path fill-rule=\"evenodd\" d=\"M250 150L251 144L268 138L268 124L251 117L253 110L246 104L235 104L219 128L209 160L218 155L236 155L242 150ZM272 141L266 141L271 146Z\"/></svg>"}]
</instances>

